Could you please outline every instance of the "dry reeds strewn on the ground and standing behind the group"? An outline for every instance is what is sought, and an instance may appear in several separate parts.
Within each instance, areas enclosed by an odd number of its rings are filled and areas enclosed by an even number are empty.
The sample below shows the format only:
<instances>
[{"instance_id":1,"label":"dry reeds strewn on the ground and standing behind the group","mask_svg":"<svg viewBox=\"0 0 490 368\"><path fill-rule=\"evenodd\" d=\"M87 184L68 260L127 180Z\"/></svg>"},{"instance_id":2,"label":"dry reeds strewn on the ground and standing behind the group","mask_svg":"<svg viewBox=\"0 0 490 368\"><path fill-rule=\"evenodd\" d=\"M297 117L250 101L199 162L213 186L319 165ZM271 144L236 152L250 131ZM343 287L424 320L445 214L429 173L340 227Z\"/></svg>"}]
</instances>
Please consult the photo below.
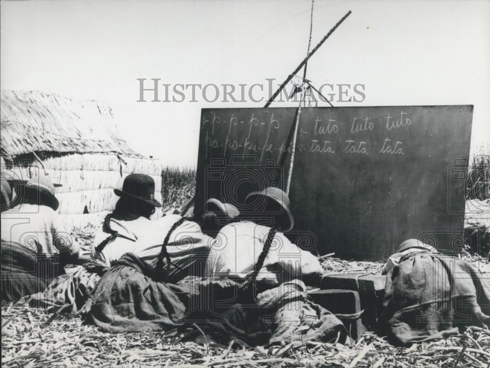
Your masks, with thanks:
<instances>
[{"instance_id":1,"label":"dry reeds strewn on the ground and standing behind the group","mask_svg":"<svg viewBox=\"0 0 490 368\"><path fill-rule=\"evenodd\" d=\"M179 207L194 194L193 175L192 170L181 171L177 178L170 171L163 172L164 208ZM87 227L74 235L89 246L93 232L93 227ZM488 257L467 250L461 256L490 275ZM382 263L334 257L324 258L322 265L326 272L378 272L382 267ZM308 342L267 349L241 341L224 346L208 336L182 343L175 341L178 336L151 331L112 335L83 324L77 315L48 314L29 307L2 308L1 322L5 367L490 368L490 331L477 327L463 336L409 347L393 347L367 332L352 345Z\"/></svg>"}]
</instances>

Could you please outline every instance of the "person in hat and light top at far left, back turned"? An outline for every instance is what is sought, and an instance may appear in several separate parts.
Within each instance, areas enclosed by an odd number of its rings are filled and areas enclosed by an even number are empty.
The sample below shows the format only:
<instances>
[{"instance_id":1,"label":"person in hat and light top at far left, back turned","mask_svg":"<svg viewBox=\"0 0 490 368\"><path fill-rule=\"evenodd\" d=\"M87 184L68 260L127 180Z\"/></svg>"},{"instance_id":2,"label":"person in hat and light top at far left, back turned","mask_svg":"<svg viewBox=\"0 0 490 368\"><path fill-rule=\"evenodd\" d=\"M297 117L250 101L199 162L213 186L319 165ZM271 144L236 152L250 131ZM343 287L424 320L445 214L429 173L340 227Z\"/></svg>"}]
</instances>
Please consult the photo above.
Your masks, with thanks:
<instances>
[{"instance_id":1,"label":"person in hat and light top at far left, back turned","mask_svg":"<svg viewBox=\"0 0 490 368\"><path fill-rule=\"evenodd\" d=\"M45 176L34 177L22 192L23 198L14 201L18 205L1 212L2 271L15 265L17 275L7 272L12 277L2 277L2 300L42 291L46 280L64 273L65 264L79 261L80 248L55 212L59 202L54 184ZM39 263L40 259L46 262ZM33 289L23 284L29 277L22 274L34 271L39 282Z\"/></svg>"}]
</instances>

